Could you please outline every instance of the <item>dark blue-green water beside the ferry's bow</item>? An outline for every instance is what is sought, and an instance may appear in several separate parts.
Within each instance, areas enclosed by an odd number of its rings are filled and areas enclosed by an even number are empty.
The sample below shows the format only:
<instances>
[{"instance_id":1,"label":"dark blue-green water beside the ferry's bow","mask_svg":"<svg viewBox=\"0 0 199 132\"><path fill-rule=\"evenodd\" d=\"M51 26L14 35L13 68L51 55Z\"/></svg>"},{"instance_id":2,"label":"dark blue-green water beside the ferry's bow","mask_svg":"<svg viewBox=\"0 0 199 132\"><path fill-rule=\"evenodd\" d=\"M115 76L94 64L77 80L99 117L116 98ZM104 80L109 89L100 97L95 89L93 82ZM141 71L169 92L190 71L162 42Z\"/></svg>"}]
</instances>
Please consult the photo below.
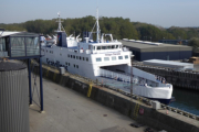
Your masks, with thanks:
<instances>
[{"instance_id":1,"label":"dark blue-green water beside the ferry's bow","mask_svg":"<svg viewBox=\"0 0 199 132\"><path fill-rule=\"evenodd\" d=\"M174 88L172 97L176 101L170 107L199 116L199 92Z\"/></svg>"}]
</instances>

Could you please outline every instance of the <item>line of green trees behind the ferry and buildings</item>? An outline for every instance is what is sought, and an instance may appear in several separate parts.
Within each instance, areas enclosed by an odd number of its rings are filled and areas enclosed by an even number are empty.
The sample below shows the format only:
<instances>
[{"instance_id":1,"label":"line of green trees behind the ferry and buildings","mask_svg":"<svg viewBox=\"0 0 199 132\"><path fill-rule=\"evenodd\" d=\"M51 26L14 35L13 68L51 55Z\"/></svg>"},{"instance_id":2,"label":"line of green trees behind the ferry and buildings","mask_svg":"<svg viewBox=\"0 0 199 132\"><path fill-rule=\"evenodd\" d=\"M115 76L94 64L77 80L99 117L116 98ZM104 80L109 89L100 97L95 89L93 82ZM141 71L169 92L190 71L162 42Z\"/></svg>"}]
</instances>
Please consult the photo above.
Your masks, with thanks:
<instances>
[{"instance_id":1,"label":"line of green trees behind the ferry and buildings","mask_svg":"<svg viewBox=\"0 0 199 132\"><path fill-rule=\"evenodd\" d=\"M32 20L23 23L3 24L0 23L0 29L7 31L27 31L42 34L54 34L57 29L56 19L52 20ZM83 31L92 31L95 24L95 18L92 15L76 19L62 19L62 25L70 34L82 34ZM114 38L129 38L158 42L159 40L191 40L199 37L199 28L177 28L171 26L164 29L161 26L130 22L129 19L123 18L106 18L100 20L102 33L112 33Z\"/></svg>"}]
</instances>

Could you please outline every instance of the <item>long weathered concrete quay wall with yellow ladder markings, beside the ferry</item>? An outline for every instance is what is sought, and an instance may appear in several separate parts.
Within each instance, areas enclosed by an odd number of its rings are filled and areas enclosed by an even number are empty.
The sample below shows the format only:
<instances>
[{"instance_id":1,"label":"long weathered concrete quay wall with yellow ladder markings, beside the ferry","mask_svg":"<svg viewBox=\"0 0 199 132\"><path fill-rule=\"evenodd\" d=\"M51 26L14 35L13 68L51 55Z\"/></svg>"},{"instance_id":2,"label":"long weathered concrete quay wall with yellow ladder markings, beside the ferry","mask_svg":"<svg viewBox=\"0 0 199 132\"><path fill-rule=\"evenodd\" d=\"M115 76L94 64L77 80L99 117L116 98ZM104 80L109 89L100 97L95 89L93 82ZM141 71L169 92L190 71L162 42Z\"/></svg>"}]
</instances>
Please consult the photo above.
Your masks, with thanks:
<instances>
[{"instance_id":1,"label":"long weathered concrete quay wall with yellow ladder markings, beside the ferry","mask_svg":"<svg viewBox=\"0 0 199 132\"><path fill-rule=\"evenodd\" d=\"M39 67L34 68L34 73L39 73ZM43 68L42 75L56 84L87 96L90 84L86 79L81 79L70 74L62 76L57 70L50 68ZM132 99L107 88L94 85L90 98L137 120L139 123L147 124L157 130L167 130L168 132L199 132L198 120L189 119L171 111L167 114L166 110L151 109L150 106L139 100ZM135 114L138 106L144 109L144 114Z\"/></svg>"}]
</instances>

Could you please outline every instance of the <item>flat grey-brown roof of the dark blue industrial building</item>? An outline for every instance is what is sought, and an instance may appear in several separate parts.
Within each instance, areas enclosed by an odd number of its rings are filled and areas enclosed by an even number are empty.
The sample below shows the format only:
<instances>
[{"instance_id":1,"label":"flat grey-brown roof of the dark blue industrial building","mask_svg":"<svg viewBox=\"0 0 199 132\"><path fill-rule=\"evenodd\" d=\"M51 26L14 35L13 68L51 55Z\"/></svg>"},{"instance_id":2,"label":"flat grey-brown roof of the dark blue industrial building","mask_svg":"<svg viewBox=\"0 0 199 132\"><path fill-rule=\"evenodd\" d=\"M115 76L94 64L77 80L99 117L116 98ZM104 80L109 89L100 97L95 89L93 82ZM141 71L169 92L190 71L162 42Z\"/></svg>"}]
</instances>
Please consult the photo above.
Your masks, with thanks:
<instances>
[{"instance_id":1,"label":"flat grey-brown roof of the dark blue industrial building","mask_svg":"<svg viewBox=\"0 0 199 132\"><path fill-rule=\"evenodd\" d=\"M165 51L192 51L191 46L185 45L174 45L174 44L164 44L164 43L151 43L151 42L144 42L144 41L123 41L124 46L129 48L134 48L135 51L140 52L165 52Z\"/></svg>"}]
</instances>

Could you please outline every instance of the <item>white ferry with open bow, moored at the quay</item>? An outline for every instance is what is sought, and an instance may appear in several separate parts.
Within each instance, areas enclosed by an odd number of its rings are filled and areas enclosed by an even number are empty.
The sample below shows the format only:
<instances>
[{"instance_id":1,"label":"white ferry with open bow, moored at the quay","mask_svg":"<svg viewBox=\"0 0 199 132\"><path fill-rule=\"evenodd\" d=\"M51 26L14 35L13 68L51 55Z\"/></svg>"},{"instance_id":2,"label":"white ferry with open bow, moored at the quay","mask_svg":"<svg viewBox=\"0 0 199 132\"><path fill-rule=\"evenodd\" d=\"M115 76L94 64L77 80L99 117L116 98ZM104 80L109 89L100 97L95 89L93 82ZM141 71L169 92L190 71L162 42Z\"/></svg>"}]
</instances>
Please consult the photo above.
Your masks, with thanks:
<instances>
[{"instance_id":1,"label":"white ferry with open bow, moored at the quay","mask_svg":"<svg viewBox=\"0 0 199 132\"><path fill-rule=\"evenodd\" d=\"M112 79L114 82L126 82L129 84L126 89L128 92L132 89L134 95L158 100L165 105L170 103L172 85L161 77L133 67L132 52L124 47L122 42L114 40L111 33L101 34L98 10L96 14L96 31L87 33L83 40L78 38L80 35L76 37L66 35L62 30L59 14L56 43L42 45L42 62L65 67L69 73L91 79L104 78L104 80ZM92 38L94 33L96 33L95 41Z\"/></svg>"}]
</instances>

